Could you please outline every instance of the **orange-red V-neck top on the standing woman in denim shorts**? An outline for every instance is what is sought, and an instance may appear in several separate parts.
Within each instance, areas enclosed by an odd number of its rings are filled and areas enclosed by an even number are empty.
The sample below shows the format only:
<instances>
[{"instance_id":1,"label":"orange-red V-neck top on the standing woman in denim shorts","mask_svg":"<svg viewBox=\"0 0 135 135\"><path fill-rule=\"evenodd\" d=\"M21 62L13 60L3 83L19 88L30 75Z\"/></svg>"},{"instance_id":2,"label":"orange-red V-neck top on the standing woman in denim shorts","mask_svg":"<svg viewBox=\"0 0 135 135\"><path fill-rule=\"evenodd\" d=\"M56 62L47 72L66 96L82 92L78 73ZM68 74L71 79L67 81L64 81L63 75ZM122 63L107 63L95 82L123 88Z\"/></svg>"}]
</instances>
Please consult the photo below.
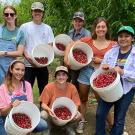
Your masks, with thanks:
<instances>
[{"instance_id":1,"label":"orange-red V-neck top on the standing woman in denim shorts","mask_svg":"<svg viewBox=\"0 0 135 135\"><path fill-rule=\"evenodd\" d=\"M101 58L101 59L103 59L105 53L106 53L108 50L110 50L113 45L116 44L115 41L110 41L107 48L104 48L104 49L100 49L100 50L99 50L98 48L96 48L96 47L94 46L94 44L93 44L93 39L90 38L90 37L81 38L80 41L85 42L85 43L87 43L88 45L90 45L90 47L91 47L92 50L93 50L93 55L94 55L94 57L98 57L98 58Z\"/></svg>"}]
</instances>

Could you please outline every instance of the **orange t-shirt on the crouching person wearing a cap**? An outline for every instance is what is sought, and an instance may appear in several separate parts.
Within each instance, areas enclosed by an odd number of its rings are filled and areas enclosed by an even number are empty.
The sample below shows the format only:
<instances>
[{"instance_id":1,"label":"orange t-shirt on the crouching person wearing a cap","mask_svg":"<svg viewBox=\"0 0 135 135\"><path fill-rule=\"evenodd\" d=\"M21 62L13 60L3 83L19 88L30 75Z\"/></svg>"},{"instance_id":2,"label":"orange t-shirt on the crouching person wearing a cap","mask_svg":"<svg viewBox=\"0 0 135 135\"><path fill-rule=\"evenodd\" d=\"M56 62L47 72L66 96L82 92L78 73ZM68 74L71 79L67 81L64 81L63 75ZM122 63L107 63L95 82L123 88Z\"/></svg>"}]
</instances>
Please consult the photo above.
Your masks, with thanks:
<instances>
[{"instance_id":1,"label":"orange t-shirt on the crouching person wearing a cap","mask_svg":"<svg viewBox=\"0 0 135 135\"><path fill-rule=\"evenodd\" d=\"M77 106L80 105L80 98L76 87L68 82L65 90L58 89L56 82L47 84L40 96L40 101L51 108L54 100L58 97L68 97L72 99Z\"/></svg>"}]
</instances>

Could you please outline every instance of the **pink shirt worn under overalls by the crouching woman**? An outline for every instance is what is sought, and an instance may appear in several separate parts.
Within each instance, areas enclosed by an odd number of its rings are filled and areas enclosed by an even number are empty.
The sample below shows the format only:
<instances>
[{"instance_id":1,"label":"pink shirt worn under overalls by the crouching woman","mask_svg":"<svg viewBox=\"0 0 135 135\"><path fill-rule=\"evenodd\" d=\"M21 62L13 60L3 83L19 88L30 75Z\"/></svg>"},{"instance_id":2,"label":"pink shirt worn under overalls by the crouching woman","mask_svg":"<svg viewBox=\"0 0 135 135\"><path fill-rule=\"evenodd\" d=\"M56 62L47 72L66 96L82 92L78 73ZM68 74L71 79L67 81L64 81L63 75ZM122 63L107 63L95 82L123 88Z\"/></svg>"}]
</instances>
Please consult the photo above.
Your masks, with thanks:
<instances>
[{"instance_id":1,"label":"pink shirt worn under overalls by the crouching woman","mask_svg":"<svg viewBox=\"0 0 135 135\"><path fill-rule=\"evenodd\" d=\"M26 92L23 91L23 84L20 89L16 89L12 92L12 96L14 95L23 95L27 96L27 101L33 102L32 88L29 82L25 81ZM0 86L0 109L6 108L11 104L11 95L7 90L5 84Z\"/></svg>"}]
</instances>

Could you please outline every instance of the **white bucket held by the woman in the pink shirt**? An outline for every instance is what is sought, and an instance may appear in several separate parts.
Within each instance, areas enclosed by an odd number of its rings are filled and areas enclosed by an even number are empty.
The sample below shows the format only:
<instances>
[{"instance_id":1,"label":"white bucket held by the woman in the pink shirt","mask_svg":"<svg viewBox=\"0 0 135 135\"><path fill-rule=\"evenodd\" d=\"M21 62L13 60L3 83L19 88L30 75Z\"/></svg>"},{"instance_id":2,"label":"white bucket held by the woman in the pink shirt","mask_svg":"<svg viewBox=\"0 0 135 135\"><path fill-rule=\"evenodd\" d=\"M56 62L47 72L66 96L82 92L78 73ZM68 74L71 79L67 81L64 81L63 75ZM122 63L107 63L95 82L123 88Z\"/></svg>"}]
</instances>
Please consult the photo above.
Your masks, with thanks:
<instances>
[{"instance_id":1,"label":"white bucket held by the woman in the pink shirt","mask_svg":"<svg viewBox=\"0 0 135 135\"><path fill-rule=\"evenodd\" d=\"M28 115L28 117L31 119L32 127L29 129L19 127L13 121L12 115L14 113L24 113ZM13 107L9 115L6 117L5 130L7 134L10 135L26 135L27 133L33 131L39 122L40 122L40 111L37 108L37 106L28 101L21 101L21 104L18 105L17 107Z\"/></svg>"}]
</instances>

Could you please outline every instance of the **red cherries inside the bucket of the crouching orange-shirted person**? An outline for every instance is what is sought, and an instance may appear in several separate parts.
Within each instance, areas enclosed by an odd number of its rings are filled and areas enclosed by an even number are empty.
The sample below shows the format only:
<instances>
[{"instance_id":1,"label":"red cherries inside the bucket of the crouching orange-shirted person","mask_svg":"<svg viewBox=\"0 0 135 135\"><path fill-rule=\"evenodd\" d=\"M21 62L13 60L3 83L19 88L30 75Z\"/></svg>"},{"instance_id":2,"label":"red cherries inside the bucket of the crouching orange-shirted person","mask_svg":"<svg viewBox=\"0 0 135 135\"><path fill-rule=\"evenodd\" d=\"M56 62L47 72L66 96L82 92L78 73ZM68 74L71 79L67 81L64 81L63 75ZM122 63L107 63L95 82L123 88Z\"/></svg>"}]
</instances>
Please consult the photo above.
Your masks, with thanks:
<instances>
[{"instance_id":1,"label":"red cherries inside the bucket of the crouching orange-shirted person","mask_svg":"<svg viewBox=\"0 0 135 135\"><path fill-rule=\"evenodd\" d=\"M59 119L62 119L62 120L68 120L71 118L71 115L72 115L70 110L65 106L55 108L54 113Z\"/></svg>"}]
</instances>

